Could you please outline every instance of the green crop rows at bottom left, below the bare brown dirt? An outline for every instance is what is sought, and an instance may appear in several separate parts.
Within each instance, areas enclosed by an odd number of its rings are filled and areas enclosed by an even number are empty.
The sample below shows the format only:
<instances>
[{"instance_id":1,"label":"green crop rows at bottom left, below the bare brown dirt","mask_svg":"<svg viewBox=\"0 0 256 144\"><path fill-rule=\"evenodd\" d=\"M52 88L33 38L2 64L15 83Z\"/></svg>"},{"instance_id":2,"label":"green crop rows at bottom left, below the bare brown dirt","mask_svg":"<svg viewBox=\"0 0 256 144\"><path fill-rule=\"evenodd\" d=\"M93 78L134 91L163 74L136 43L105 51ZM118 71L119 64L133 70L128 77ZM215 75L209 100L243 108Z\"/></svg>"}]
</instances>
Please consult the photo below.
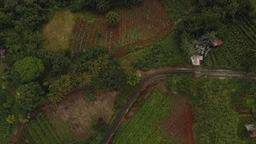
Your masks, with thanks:
<instances>
[{"instance_id":1,"label":"green crop rows at bottom left, below the bare brown dirt","mask_svg":"<svg viewBox=\"0 0 256 144\"><path fill-rule=\"evenodd\" d=\"M30 143L61 143L52 125L48 119L40 113L37 115L36 121L26 124L27 130L24 131L23 140L27 139Z\"/></svg>"}]
</instances>

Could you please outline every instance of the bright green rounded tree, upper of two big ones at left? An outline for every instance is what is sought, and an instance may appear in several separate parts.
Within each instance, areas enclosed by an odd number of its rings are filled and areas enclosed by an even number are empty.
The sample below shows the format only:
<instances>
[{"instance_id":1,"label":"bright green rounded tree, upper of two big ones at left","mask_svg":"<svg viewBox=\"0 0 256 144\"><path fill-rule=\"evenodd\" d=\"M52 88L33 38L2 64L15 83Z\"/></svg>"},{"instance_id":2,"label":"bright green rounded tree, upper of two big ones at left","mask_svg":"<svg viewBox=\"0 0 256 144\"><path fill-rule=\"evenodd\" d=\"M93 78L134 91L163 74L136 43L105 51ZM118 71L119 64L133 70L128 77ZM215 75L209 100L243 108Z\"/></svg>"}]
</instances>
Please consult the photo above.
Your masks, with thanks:
<instances>
[{"instance_id":1,"label":"bright green rounded tree, upper of two big ones at left","mask_svg":"<svg viewBox=\"0 0 256 144\"><path fill-rule=\"evenodd\" d=\"M19 73L23 82L30 82L43 73L44 65L39 58L25 57L14 64L14 70Z\"/></svg>"}]
</instances>

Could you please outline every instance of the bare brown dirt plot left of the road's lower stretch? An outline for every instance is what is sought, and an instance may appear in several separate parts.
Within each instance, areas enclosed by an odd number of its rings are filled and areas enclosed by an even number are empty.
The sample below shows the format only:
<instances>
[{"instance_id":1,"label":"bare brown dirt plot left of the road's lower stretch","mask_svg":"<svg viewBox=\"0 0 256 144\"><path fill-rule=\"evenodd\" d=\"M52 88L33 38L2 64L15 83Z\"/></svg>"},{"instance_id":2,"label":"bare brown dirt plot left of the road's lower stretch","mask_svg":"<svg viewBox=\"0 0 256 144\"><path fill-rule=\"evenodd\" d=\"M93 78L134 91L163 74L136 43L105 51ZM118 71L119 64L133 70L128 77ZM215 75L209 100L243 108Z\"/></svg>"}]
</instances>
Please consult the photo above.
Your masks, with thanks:
<instances>
[{"instance_id":1,"label":"bare brown dirt plot left of the road's lower stretch","mask_svg":"<svg viewBox=\"0 0 256 144\"><path fill-rule=\"evenodd\" d=\"M97 95L95 102L85 100L86 95L94 93ZM103 89L76 89L69 94L61 103L53 103L43 107L43 111L51 121L54 116L59 115L68 125L69 131L78 139L88 139L91 132L92 121L103 118L108 122L114 114L114 99L119 91L106 91Z\"/></svg>"}]
</instances>

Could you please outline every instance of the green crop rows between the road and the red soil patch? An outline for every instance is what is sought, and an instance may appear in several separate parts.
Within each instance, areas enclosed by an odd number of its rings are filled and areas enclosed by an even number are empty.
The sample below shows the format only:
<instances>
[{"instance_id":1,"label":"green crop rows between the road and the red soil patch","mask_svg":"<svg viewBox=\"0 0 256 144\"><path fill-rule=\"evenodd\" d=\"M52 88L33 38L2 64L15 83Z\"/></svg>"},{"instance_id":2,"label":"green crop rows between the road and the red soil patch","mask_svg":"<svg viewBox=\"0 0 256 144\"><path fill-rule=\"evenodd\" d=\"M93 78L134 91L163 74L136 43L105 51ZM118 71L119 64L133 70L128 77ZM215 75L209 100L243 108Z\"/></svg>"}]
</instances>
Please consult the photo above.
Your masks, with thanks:
<instances>
[{"instance_id":1,"label":"green crop rows between the road and the red soil patch","mask_svg":"<svg viewBox=\"0 0 256 144\"><path fill-rule=\"evenodd\" d=\"M170 95L153 91L131 120L120 128L114 143L172 143L160 134L160 121L172 107Z\"/></svg>"}]
</instances>

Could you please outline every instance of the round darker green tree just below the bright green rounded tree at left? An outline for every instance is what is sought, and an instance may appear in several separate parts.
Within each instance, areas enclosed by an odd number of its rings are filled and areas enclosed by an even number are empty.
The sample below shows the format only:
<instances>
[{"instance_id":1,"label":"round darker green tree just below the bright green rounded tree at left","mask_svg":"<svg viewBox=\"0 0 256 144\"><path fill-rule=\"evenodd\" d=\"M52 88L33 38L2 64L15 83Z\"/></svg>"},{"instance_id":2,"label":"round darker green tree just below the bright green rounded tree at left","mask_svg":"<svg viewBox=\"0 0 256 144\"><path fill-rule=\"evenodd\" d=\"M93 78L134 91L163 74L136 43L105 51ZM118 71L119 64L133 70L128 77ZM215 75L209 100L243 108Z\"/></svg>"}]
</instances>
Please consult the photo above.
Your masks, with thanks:
<instances>
[{"instance_id":1,"label":"round darker green tree just below the bright green rounded tree at left","mask_svg":"<svg viewBox=\"0 0 256 144\"><path fill-rule=\"evenodd\" d=\"M16 102L22 109L32 111L44 104L45 93L38 82L30 82L17 89Z\"/></svg>"}]
</instances>

